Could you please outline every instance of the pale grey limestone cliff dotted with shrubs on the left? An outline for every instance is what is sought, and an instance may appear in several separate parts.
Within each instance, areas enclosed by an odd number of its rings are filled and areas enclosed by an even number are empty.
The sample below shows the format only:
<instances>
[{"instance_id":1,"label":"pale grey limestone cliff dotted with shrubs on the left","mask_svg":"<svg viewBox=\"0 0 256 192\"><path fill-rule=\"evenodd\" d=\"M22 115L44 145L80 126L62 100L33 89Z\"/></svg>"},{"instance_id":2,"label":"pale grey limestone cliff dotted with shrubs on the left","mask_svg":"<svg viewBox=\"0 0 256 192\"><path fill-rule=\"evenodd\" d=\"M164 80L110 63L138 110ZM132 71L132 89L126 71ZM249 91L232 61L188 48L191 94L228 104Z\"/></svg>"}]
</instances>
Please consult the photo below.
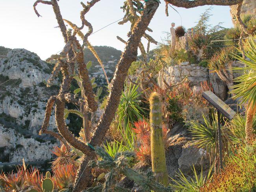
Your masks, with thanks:
<instances>
[{"instance_id":1,"label":"pale grey limestone cliff dotted with shrubs on the left","mask_svg":"<svg viewBox=\"0 0 256 192\"><path fill-rule=\"evenodd\" d=\"M0 161L20 162L50 159L59 144L49 135L38 135L48 98L58 89L47 88L50 65L25 49L9 50L0 57ZM49 130L56 130L54 110ZM2 157L1 157L2 156ZM7 157L8 158L4 158Z\"/></svg>"}]
</instances>

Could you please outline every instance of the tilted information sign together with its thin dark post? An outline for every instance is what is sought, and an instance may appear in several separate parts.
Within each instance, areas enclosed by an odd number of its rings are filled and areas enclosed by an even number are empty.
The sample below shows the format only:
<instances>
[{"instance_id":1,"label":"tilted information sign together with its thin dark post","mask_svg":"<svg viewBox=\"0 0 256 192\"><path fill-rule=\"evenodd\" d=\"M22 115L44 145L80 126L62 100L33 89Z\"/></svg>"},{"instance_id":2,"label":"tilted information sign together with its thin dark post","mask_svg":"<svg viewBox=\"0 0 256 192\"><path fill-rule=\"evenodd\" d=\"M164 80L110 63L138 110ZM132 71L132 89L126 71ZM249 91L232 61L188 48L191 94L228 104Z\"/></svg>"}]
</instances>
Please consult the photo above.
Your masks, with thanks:
<instances>
[{"instance_id":1,"label":"tilted information sign together with its thin dark post","mask_svg":"<svg viewBox=\"0 0 256 192\"><path fill-rule=\"evenodd\" d=\"M226 103L224 103L220 98L218 98L213 92L205 91L202 93L202 97L205 98L215 109L217 109L218 114L218 144L219 144L219 161L220 168L223 168L223 159L222 159L222 139L221 139L221 114L224 117L232 120L236 115L236 112L233 111Z\"/></svg>"}]
</instances>

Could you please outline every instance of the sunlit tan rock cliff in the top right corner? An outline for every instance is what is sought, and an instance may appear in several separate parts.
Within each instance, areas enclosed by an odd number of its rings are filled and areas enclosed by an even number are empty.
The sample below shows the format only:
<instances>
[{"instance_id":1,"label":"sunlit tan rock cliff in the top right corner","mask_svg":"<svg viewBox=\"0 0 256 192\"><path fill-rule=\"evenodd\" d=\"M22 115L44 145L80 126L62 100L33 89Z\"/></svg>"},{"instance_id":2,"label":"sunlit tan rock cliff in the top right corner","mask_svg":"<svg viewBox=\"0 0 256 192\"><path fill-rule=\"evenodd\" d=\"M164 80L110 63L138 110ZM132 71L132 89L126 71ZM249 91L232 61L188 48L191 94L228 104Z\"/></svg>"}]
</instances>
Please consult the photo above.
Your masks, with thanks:
<instances>
[{"instance_id":1,"label":"sunlit tan rock cliff in the top right corner","mask_svg":"<svg viewBox=\"0 0 256 192\"><path fill-rule=\"evenodd\" d=\"M234 15L236 15L237 5L230 6L230 15L232 18L233 24L236 24L233 19ZM253 18L256 18L256 0L244 0L241 7L242 15L252 15Z\"/></svg>"}]
</instances>

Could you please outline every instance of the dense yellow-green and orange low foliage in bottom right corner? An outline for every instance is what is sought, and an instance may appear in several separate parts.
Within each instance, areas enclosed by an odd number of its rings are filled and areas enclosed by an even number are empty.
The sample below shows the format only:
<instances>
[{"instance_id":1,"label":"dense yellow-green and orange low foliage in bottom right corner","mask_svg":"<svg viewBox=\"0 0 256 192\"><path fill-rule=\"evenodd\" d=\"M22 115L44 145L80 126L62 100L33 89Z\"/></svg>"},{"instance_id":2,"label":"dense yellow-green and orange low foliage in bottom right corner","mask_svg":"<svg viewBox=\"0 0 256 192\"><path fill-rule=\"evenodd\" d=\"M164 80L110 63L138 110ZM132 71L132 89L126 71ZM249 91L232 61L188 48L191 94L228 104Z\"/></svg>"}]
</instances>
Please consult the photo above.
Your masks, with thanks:
<instances>
[{"instance_id":1,"label":"dense yellow-green and orange low foliage in bottom right corner","mask_svg":"<svg viewBox=\"0 0 256 192\"><path fill-rule=\"evenodd\" d=\"M228 157L221 174L214 174L200 192L254 192L256 190L256 145L243 145Z\"/></svg>"}]
</instances>

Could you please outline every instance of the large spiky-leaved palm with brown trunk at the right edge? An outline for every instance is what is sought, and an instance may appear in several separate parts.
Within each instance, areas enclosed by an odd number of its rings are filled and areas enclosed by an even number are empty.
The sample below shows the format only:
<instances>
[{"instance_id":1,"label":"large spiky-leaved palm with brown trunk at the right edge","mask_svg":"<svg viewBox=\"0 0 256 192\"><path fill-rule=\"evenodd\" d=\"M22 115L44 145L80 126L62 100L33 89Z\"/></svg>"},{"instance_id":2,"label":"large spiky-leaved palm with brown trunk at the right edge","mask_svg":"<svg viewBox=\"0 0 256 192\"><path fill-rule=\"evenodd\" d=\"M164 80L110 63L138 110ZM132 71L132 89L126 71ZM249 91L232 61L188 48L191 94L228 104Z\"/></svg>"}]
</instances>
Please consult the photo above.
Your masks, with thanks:
<instances>
[{"instance_id":1,"label":"large spiky-leaved palm with brown trunk at the right edge","mask_svg":"<svg viewBox=\"0 0 256 192\"><path fill-rule=\"evenodd\" d=\"M241 103L247 104L247 114L245 123L245 140L247 144L252 144L255 140L253 118L256 113L256 41L255 37L250 36L245 45L245 56L233 54L233 57L245 64L244 68L233 68L237 72L242 72L243 75L234 79L238 82L232 86L234 90L230 93L235 94L234 99L239 98Z\"/></svg>"}]
</instances>

